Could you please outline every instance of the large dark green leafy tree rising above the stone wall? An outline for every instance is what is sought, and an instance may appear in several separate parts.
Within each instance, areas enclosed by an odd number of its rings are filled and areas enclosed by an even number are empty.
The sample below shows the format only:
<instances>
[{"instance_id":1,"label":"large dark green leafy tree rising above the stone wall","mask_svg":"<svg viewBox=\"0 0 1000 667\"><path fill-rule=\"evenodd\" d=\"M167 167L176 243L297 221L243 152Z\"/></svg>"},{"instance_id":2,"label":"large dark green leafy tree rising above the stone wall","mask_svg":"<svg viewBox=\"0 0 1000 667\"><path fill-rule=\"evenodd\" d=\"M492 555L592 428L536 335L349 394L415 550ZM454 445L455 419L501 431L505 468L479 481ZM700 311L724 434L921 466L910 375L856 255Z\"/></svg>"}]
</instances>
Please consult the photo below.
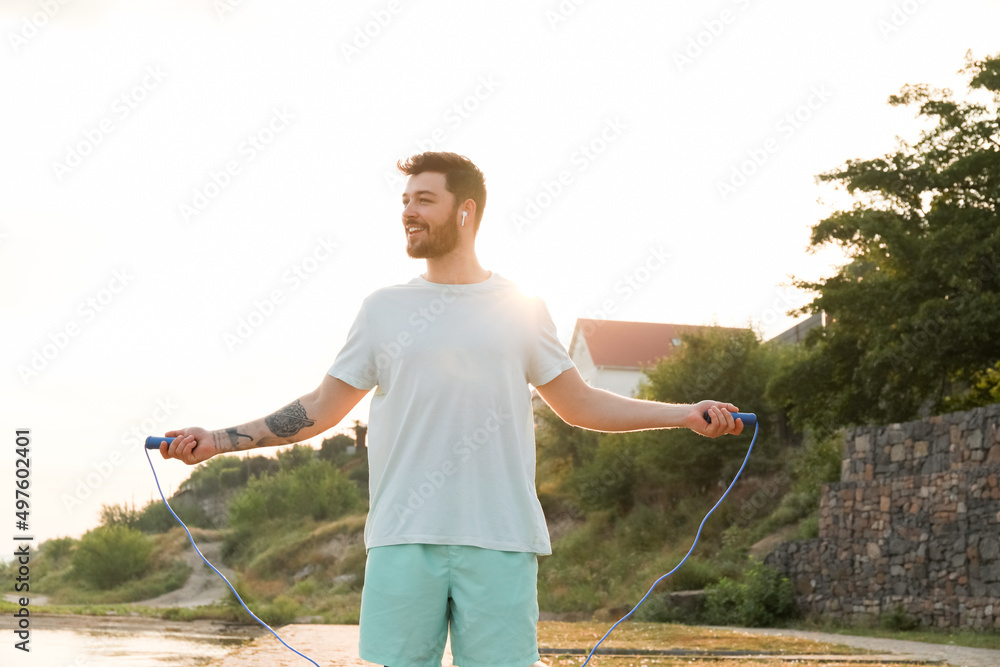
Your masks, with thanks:
<instances>
[{"instance_id":1,"label":"large dark green leafy tree rising above the stone wall","mask_svg":"<svg viewBox=\"0 0 1000 667\"><path fill-rule=\"evenodd\" d=\"M771 386L800 427L938 411L1000 360L1000 55L970 54L962 72L966 101L926 85L889 98L930 121L916 143L819 176L855 205L810 241L838 244L849 262L796 282L817 294L799 313L828 322Z\"/></svg>"}]
</instances>

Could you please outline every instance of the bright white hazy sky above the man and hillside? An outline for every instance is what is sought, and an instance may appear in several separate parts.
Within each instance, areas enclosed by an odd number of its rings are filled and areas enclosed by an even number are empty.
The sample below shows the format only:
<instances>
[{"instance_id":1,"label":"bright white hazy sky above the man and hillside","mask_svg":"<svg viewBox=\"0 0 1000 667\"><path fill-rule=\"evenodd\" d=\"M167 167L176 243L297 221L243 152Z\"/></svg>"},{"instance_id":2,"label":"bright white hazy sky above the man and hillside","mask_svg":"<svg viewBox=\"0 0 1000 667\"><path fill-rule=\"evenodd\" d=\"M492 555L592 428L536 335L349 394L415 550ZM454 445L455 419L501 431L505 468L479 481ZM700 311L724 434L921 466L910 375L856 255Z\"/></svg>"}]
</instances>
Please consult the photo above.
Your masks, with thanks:
<instances>
[{"instance_id":1,"label":"bright white hazy sky above the man and hillside","mask_svg":"<svg viewBox=\"0 0 1000 667\"><path fill-rule=\"evenodd\" d=\"M0 534L79 537L155 497L146 435L315 388L362 299L424 270L395 170L424 150L483 170L480 261L567 347L581 317L774 336L793 279L846 261L809 248L852 205L816 176L916 139L888 96L961 91L997 25L975 0L7 0L0 479L30 431L30 507L17 529L8 493ZM154 465L168 493L191 472Z\"/></svg>"}]
</instances>

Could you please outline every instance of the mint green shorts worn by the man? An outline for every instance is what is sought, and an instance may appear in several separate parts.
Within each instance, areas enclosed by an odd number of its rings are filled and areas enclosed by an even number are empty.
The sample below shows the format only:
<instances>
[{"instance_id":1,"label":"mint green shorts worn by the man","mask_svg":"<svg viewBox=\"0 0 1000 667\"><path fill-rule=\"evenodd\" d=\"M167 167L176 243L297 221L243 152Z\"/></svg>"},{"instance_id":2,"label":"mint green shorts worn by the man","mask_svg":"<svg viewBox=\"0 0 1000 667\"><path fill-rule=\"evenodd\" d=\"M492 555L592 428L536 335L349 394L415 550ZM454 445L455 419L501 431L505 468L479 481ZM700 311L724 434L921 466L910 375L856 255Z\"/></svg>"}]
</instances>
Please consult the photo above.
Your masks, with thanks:
<instances>
[{"instance_id":1,"label":"mint green shorts worn by the man","mask_svg":"<svg viewBox=\"0 0 1000 667\"><path fill-rule=\"evenodd\" d=\"M361 593L361 658L440 667L528 667L538 656L538 558L438 544L373 547Z\"/></svg>"}]
</instances>

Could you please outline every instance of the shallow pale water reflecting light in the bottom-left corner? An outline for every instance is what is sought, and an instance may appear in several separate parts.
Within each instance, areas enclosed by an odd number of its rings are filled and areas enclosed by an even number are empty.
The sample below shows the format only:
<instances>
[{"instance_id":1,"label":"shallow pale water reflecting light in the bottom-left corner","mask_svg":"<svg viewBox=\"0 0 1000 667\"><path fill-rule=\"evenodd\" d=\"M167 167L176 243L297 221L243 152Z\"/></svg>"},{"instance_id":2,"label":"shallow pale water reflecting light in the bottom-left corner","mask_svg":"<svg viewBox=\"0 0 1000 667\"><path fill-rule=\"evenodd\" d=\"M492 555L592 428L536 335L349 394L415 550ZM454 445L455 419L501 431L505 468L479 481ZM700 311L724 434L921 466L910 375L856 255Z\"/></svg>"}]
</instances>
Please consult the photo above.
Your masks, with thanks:
<instances>
[{"instance_id":1,"label":"shallow pale water reflecting light in the bottom-left corner","mask_svg":"<svg viewBox=\"0 0 1000 667\"><path fill-rule=\"evenodd\" d=\"M165 625L174 625L164 622ZM30 653L14 648L12 631L3 632L0 664L31 667L195 667L225 656L249 641L245 637L160 630L31 630Z\"/></svg>"}]
</instances>

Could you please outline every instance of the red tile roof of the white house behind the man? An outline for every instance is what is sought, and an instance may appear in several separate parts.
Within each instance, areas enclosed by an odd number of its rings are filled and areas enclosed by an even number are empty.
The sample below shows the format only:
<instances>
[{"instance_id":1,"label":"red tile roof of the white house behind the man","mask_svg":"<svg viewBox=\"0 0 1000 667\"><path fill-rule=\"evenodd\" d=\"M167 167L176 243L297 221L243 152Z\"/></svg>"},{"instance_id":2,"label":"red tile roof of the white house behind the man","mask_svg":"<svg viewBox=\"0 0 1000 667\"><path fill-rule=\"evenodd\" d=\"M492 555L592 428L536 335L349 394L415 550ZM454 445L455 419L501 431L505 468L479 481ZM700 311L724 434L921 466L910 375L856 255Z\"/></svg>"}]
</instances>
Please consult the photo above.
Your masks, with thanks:
<instances>
[{"instance_id":1,"label":"red tile roof of the white house behind the man","mask_svg":"<svg viewBox=\"0 0 1000 667\"><path fill-rule=\"evenodd\" d=\"M590 320L580 318L573 329L569 354L579 336L586 341L595 366L615 368L641 368L652 366L658 359L669 357L676 348L675 340L685 334L708 329L742 331L728 327L705 327L690 324L665 324L660 322L622 322L619 320Z\"/></svg>"}]
</instances>

